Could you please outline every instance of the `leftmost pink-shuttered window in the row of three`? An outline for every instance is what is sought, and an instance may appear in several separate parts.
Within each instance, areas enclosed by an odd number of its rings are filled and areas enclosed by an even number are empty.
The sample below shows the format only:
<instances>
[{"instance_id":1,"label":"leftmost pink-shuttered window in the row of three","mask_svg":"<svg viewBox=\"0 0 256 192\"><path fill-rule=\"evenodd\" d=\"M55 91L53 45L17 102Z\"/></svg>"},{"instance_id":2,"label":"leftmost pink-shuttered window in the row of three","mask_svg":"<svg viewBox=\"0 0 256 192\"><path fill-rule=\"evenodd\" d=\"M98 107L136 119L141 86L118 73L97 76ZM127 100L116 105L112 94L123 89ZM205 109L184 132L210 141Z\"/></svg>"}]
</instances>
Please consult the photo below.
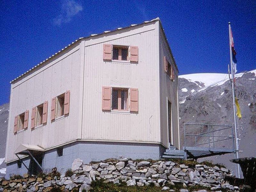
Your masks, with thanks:
<instances>
[{"instance_id":1,"label":"leftmost pink-shuttered window in the row of three","mask_svg":"<svg viewBox=\"0 0 256 192\"><path fill-rule=\"evenodd\" d=\"M28 128L28 110L14 117L14 134Z\"/></svg>"}]
</instances>

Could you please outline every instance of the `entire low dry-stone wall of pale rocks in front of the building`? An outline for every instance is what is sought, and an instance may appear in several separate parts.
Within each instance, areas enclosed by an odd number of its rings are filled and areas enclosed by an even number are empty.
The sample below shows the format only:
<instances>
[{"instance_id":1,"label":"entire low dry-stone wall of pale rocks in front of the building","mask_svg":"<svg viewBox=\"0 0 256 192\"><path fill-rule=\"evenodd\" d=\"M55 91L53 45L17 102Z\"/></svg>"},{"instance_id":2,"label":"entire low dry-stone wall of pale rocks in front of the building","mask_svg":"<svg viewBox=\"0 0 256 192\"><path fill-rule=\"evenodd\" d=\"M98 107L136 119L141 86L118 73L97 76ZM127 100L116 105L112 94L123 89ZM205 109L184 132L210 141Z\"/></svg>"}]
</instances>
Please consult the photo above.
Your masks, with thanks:
<instances>
[{"instance_id":1,"label":"entire low dry-stone wall of pale rocks in front of the building","mask_svg":"<svg viewBox=\"0 0 256 192\"><path fill-rule=\"evenodd\" d=\"M71 177L61 175L44 180L40 177L24 178L22 180L5 181L0 179L0 191L23 190L50 191L58 186L63 190L72 191L78 189L81 192L90 188L92 180L104 179L104 182L120 183L126 182L127 186L144 186L153 183L155 186L169 190L166 185L182 184L188 186L201 185L211 190L227 188L238 190L238 187L225 182L225 175L230 175L225 168L217 166L209 167L197 164L195 168L189 168L185 164L176 164L172 161L135 161L127 158L109 159L98 163L83 164L81 159L75 159L72 164L74 174ZM172 190L169 190L172 191Z\"/></svg>"}]
</instances>

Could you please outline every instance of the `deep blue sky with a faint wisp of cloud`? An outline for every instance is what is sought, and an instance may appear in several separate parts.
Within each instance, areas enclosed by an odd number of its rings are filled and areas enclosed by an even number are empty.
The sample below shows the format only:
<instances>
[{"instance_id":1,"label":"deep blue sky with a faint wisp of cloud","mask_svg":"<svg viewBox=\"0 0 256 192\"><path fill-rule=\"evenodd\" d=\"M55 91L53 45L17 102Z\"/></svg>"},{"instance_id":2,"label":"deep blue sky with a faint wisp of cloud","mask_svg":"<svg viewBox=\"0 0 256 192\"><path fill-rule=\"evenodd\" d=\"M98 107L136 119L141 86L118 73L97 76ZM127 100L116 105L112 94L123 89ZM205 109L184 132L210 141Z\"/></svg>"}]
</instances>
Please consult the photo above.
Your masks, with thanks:
<instances>
[{"instance_id":1,"label":"deep blue sky with a faint wisp of cloud","mask_svg":"<svg viewBox=\"0 0 256 192\"><path fill-rule=\"evenodd\" d=\"M1 1L0 105L10 81L79 37L160 18L179 69L227 73L228 21L237 71L256 68L256 1ZM125 2L125 3L124 3Z\"/></svg>"}]
</instances>

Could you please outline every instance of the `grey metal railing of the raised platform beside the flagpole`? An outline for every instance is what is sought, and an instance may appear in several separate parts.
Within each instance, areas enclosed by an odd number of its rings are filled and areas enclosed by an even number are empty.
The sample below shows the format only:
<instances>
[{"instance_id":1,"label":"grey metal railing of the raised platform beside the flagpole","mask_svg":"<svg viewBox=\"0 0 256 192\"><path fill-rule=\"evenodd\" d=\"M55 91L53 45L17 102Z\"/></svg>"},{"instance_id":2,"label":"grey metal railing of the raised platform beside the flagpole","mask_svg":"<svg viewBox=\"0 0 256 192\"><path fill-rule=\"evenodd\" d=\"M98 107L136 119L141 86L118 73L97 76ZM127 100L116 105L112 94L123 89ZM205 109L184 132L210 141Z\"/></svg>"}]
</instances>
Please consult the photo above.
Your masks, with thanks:
<instances>
[{"instance_id":1,"label":"grey metal railing of the raised platform beside the flagpole","mask_svg":"<svg viewBox=\"0 0 256 192\"><path fill-rule=\"evenodd\" d=\"M231 125L185 123L184 145L185 151L187 147L208 148L209 151L213 148L234 149L233 127Z\"/></svg>"}]
</instances>

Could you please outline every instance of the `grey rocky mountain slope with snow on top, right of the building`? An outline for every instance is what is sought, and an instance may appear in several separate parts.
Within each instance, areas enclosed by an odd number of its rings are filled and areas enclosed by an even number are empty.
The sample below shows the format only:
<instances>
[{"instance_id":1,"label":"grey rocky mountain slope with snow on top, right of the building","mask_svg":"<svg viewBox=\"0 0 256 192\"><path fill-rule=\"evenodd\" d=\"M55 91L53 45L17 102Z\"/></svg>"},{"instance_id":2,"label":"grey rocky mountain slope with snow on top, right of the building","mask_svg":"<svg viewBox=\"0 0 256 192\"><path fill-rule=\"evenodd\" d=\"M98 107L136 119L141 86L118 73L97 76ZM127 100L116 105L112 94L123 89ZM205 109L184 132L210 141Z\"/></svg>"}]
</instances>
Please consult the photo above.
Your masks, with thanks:
<instances>
[{"instance_id":1,"label":"grey rocky mountain slope with snow on top, right of the building","mask_svg":"<svg viewBox=\"0 0 256 192\"><path fill-rule=\"evenodd\" d=\"M236 75L235 92L242 118L237 118L239 157L256 156L256 70ZM222 124L234 127L232 84L228 74L179 76L180 137L184 146L184 123ZM225 146L223 146L225 147ZM198 159L225 164L235 174L234 154Z\"/></svg>"}]
</instances>

